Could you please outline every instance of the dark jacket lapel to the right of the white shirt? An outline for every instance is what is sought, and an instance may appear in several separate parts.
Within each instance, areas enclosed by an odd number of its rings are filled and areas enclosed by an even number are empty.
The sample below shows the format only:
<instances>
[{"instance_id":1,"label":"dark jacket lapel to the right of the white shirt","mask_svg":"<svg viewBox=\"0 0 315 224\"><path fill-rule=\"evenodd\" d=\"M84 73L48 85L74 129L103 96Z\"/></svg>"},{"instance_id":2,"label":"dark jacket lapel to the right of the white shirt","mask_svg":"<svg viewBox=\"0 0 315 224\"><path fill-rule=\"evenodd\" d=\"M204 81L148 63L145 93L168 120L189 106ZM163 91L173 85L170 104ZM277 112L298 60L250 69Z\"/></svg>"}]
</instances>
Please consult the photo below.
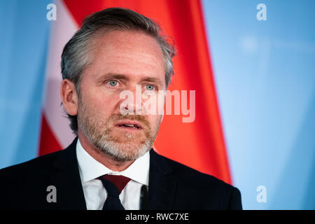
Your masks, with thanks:
<instances>
[{"instance_id":1,"label":"dark jacket lapel to the right of the white shirt","mask_svg":"<svg viewBox=\"0 0 315 224\"><path fill-rule=\"evenodd\" d=\"M148 186L148 209L172 209L176 181L165 159L151 150Z\"/></svg>"}]
</instances>

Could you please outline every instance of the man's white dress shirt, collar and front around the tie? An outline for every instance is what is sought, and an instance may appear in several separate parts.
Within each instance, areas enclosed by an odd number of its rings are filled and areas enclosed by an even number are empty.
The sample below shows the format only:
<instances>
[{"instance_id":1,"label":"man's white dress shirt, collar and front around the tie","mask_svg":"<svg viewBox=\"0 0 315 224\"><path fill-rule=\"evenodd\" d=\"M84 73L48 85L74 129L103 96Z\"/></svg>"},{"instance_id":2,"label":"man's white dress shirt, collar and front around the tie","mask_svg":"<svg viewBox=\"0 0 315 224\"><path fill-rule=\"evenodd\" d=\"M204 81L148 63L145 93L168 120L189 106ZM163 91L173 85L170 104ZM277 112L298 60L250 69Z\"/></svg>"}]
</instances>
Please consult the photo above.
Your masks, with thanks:
<instances>
[{"instance_id":1,"label":"man's white dress shirt, collar and front around the tie","mask_svg":"<svg viewBox=\"0 0 315 224\"><path fill-rule=\"evenodd\" d=\"M122 172L113 172L97 162L85 151L79 139L76 144L76 156L87 210L102 210L107 193L102 181L97 177L105 174L123 175L131 179L119 195L120 202L125 210L139 210L141 186L145 185L148 188L149 152L135 160L130 167Z\"/></svg>"}]
</instances>

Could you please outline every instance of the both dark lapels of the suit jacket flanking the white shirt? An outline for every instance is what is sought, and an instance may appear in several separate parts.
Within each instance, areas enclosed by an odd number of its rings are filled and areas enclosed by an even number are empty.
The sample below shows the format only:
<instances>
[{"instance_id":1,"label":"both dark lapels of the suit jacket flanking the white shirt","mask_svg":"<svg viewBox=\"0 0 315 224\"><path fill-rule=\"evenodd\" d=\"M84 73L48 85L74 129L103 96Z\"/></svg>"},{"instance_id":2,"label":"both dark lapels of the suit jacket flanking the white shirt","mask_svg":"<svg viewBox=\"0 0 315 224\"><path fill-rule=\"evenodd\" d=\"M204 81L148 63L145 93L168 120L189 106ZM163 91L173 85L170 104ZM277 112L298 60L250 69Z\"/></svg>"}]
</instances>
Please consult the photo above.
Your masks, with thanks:
<instances>
[{"instance_id":1,"label":"both dark lapels of the suit jacket flanking the white shirt","mask_svg":"<svg viewBox=\"0 0 315 224\"><path fill-rule=\"evenodd\" d=\"M59 209L87 209L76 158L77 140L74 139L70 146L60 151L52 165L56 173L50 179L56 184ZM172 209L176 190L172 167L153 150L150 151L148 188L147 209Z\"/></svg>"}]
</instances>

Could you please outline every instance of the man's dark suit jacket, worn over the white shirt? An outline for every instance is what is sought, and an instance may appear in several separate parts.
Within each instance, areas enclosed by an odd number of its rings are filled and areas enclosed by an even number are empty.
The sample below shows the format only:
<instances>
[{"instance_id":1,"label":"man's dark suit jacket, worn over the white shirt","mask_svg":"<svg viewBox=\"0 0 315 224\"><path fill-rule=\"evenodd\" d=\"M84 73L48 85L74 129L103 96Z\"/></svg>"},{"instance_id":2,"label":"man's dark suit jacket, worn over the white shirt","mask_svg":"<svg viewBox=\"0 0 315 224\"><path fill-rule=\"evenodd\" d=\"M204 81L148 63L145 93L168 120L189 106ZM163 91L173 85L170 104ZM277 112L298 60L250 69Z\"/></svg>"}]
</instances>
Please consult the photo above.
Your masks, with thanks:
<instances>
[{"instance_id":1,"label":"man's dark suit jacket, worn over the white shirt","mask_svg":"<svg viewBox=\"0 0 315 224\"><path fill-rule=\"evenodd\" d=\"M86 209L76 141L62 151L0 169L0 209ZM48 186L56 187L57 202L48 203ZM237 188L151 150L148 209L241 208Z\"/></svg>"}]
</instances>

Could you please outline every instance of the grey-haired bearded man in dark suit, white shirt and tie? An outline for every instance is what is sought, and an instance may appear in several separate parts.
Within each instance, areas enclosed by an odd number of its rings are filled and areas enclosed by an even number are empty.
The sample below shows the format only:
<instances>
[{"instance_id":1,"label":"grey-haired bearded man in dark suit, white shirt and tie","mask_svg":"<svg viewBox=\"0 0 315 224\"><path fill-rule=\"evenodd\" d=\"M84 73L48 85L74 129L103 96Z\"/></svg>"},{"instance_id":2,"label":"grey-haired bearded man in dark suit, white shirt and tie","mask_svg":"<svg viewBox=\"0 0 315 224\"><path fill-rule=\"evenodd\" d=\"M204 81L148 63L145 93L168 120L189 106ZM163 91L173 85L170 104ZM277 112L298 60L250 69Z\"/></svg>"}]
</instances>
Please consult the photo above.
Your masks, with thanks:
<instances>
[{"instance_id":1,"label":"grey-haired bearded man in dark suit, white shirt and tie","mask_svg":"<svg viewBox=\"0 0 315 224\"><path fill-rule=\"evenodd\" d=\"M158 25L132 10L85 19L62 52L60 94L78 137L63 151L2 169L0 207L241 209L237 188L151 150L162 114L122 97L137 87L146 99L167 90L173 55ZM165 98L151 103L159 108Z\"/></svg>"}]
</instances>

